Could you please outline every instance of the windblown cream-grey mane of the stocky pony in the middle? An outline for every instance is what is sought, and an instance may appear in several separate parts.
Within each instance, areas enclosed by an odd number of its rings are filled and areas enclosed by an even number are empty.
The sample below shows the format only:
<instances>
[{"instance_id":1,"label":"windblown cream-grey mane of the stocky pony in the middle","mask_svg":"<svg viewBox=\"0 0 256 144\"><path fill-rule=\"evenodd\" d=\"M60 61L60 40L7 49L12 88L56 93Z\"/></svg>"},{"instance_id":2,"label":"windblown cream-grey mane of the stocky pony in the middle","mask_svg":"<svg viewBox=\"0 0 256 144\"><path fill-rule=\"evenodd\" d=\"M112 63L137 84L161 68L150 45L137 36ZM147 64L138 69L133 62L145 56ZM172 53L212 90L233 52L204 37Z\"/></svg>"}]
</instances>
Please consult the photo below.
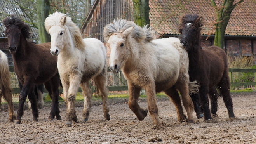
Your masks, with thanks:
<instances>
[{"instance_id":1,"label":"windblown cream-grey mane of the stocky pony in the middle","mask_svg":"<svg viewBox=\"0 0 256 144\"><path fill-rule=\"evenodd\" d=\"M154 40L156 37L154 35L154 31L147 26L141 28L137 26L133 21L127 21L125 19L118 19L113 20L113 23L110 23L104 27L104 41L107 42L109 37L114 33L123 33L126 29L130 27L134 27L131 33L131 36L138 42L141 40L151 41Z\"/></svg>"}]
</instances>

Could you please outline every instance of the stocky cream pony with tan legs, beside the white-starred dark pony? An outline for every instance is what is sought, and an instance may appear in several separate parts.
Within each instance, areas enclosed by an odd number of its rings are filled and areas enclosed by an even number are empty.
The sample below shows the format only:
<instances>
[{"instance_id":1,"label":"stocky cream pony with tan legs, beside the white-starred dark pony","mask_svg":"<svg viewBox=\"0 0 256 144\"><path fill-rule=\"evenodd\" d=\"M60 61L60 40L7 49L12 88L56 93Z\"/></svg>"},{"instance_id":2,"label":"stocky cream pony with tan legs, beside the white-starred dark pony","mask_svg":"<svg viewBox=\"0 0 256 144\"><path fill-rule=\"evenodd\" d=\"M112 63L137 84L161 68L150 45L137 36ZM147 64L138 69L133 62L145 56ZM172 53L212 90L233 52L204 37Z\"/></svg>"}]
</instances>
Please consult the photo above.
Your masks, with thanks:
<instances>
[{"instance_id":1,"label":"stocky cream pony with tan legs, beside the white-starred dark pony","mask_svg":"<svg viewBox=\"0 0 256 144\"><path fill-rule=\"evenodd\" d=\"M111 49L109 67L113 73L122 69L128 81L128 105L139 120L149 110L154 124L160 124L155 94L164 91L176 106L178 121L185 121L179 90L188 121L194 123L189 91L196 92L198 88L196 82L189 82L188 54L178 38L154 40L153 31L124 19L105 26L103 36ZM142 88L146 91L148 110L140 108L137 102Z\"/></svg>"}]
</instances>

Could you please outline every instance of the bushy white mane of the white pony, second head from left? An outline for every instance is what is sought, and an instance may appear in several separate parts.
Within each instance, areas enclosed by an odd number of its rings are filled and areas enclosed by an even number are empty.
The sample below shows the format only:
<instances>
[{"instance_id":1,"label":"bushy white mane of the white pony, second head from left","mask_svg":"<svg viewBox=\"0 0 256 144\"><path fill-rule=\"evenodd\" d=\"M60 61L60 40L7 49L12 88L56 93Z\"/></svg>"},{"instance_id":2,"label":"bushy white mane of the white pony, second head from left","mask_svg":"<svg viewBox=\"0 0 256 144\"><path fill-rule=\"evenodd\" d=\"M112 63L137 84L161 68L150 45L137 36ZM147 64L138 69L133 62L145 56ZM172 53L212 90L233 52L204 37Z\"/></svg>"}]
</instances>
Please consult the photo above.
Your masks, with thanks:
<instances>
[{"instance_id":1,"label":"bushy white mane of the white pony, second head from left","mask_svg":"<svg viewBox=\"0 0 256 144\"><path fill-rule=\"evenodd\" d=\"M66 16L66 14L62 14L61 12L55 12L53 14L50 14L49 17L47 17L44 22L44 26L45 26L47 33L49 33L49 29L53 25L63 26L61 24L61 20L64 17L66 17L65 26L67 26L67 28L70 32L70 35L72 36L72 40L74 42L75 47L77 47L78 49L81 49L81 50L84 49L85 43L84 43L84 40L82 38L79 28L72 21L71 17Z\"/></svg>"}]
</instances>

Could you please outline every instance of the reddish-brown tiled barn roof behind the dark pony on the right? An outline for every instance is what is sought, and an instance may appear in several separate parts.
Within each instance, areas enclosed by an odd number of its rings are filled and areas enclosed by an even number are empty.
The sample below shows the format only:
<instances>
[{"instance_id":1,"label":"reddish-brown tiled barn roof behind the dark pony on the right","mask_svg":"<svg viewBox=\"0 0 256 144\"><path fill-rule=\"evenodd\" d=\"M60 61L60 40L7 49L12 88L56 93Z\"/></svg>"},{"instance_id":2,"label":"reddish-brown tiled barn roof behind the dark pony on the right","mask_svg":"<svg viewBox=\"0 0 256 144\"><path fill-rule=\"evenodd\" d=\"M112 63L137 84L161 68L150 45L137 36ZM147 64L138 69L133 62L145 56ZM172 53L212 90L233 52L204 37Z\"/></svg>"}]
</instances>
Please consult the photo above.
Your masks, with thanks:
<instances>
[{"instance_id":1,"label":"reddish-brown tiled barn roof behind the dark pony on the right","mask_svg":"<svg viewBox=\"0 0 256 144\"><path fill-rule=\"evenodd\" d=\"M182 3L181 3L182 2ZM216 1L216 4L219 2ZM184 5L183 8L177 5ZM214 8L206 0L149 0L150 26L160 35L179 35L178 26L183 14L197 13L204 18L202 34L214 34ZM212 33L211 33L212 31ZM256 3L244 0L233 10L226 35L256 36Z\"/></svg>"}]
</instances>

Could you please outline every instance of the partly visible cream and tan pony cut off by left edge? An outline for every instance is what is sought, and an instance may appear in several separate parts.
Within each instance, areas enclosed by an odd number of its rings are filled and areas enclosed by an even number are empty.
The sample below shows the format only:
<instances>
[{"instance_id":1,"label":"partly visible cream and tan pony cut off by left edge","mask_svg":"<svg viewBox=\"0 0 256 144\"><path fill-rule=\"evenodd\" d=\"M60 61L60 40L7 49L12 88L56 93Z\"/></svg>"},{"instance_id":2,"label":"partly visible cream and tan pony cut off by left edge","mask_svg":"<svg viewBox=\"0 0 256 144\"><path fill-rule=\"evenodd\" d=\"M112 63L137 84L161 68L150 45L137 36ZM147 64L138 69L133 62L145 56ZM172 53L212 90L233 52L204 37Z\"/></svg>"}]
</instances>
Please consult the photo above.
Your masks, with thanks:
<instances>
[{"instance_id":1,"label":"partly visible cream and tan pony cut off by left edge","mask_svg":"<svg viewBox=\"0 0 256 144\"><path fill-rule=\"evenodd\" d=\"M15 120L16 115L13 111L12 104L12 87L10 85L10 71L8 67L8 60L5 53L0 50L0 107L1 107L1 99L3 98L8 103L9 108L9 122Z\"/></svg>"}]
</instances>

